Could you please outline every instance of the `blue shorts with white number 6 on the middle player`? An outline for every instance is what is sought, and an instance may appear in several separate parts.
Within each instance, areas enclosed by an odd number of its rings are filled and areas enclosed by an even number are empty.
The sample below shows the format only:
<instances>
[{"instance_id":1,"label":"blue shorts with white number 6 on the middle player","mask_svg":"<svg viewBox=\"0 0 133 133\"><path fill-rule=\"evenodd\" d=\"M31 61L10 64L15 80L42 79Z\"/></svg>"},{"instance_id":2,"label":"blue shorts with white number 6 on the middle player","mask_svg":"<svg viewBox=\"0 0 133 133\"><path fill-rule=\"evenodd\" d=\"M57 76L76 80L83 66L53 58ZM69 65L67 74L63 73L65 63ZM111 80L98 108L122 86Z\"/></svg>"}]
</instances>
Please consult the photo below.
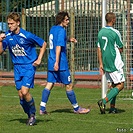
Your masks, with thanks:
<instances>
[{"instance_id":1,"label":"blue shorts with white number 6 on the middle player","mask_svg":"<svg viewBox=\"0 0 133 133\"><path fill-rule=\"evenodd\" d=\"M63 83L65 85L71 83L71 76L69 70L64 71L48 71L47 82Z\"/></svg>"}]
</instances>

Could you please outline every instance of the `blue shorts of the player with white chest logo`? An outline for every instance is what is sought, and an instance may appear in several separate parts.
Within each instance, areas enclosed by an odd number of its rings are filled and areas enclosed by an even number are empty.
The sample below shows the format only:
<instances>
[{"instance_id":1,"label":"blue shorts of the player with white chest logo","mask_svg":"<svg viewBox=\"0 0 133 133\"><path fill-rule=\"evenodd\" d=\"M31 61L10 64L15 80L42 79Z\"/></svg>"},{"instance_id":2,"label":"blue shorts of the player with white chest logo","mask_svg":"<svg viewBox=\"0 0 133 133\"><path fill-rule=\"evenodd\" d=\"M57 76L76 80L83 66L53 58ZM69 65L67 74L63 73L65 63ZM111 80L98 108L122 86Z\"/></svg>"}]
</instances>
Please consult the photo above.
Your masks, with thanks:
<instances>
[{"instance_id":1,"label":"blue shorts of the player with white chest logo","mask_svg":"<svg viewBox=\"0 0 133 133\"><path fill-rule=\"evenodd\" d=\"M35 71L36 67L32 64L14 65L14 80L16 89L20 90L22 86L33 88Z\"/></svg>"}]
</instances>

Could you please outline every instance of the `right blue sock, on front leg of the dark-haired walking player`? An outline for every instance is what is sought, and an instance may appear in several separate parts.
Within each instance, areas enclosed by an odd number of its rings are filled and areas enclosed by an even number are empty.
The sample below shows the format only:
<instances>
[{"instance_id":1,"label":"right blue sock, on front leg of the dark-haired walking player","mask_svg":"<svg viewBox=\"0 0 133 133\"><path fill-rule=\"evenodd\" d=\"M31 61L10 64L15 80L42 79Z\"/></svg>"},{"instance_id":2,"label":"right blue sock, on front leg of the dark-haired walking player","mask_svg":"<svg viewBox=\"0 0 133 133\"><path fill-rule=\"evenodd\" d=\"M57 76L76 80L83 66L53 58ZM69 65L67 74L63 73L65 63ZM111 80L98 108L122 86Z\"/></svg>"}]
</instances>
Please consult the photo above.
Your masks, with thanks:
<instances>
[{"instance_id":1,"label":"right blue sock, on front leg of the dark-haired walking player","mask_svg":"<svg viewBox=\"0 0 133 133\"><path fill-rule=\"evenodd\" d=\"M66 91L66 95L67 95L69 101L71 102L74 110L77 111L79 109L79 106L78 106L74 91L73 90Z\"/></svg>"}]
</instances>

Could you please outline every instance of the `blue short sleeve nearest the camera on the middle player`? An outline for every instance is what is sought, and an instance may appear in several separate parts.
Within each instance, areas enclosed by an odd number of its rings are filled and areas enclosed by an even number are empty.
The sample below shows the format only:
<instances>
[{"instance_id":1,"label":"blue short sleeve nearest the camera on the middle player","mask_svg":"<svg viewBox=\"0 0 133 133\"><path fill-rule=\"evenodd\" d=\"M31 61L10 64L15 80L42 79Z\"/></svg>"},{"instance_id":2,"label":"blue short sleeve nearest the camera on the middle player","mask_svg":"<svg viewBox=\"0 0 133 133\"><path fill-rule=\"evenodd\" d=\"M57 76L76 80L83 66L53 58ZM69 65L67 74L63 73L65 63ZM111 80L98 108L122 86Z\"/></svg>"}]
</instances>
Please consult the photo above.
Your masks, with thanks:
<instances>
[{"instance_id":1,"label":"blue short sleeve nearest the camera on the middle player","mask_svg":"<svg viewBox=\"0 0 133 133\"><path fill-rule=\"evenodd\" d=\"M60 29L58 32L58 36L57 36L57 46L63 46L65 47L66 45L66 32L64 29Z\"/></svg>"}]
</instances>

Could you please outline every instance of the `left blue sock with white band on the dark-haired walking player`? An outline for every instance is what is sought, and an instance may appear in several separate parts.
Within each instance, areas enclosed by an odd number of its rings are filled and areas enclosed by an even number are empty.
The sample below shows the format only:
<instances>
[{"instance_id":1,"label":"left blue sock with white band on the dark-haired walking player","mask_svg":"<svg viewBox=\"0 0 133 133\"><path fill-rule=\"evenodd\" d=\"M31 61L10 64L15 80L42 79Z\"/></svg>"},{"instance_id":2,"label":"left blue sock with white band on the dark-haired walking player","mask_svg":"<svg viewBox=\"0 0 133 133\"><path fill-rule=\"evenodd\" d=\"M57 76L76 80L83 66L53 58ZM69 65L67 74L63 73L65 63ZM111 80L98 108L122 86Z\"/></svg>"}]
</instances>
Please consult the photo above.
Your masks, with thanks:
<instances>
[{"instance_id":1,"label":"left blue sock with white band on the dark-haired walking player","mask_svg":"<svg viewBox=\"0 0 133 133\"><path fill-rule=\"evenodd\" d=\"M44 90L42 91L42 100L40 103L40 110L45 111L46 110L46 103L48 101L50 95L50 90L48 90L47 88L44 88Z\"/></svg>"}]
</instances>

